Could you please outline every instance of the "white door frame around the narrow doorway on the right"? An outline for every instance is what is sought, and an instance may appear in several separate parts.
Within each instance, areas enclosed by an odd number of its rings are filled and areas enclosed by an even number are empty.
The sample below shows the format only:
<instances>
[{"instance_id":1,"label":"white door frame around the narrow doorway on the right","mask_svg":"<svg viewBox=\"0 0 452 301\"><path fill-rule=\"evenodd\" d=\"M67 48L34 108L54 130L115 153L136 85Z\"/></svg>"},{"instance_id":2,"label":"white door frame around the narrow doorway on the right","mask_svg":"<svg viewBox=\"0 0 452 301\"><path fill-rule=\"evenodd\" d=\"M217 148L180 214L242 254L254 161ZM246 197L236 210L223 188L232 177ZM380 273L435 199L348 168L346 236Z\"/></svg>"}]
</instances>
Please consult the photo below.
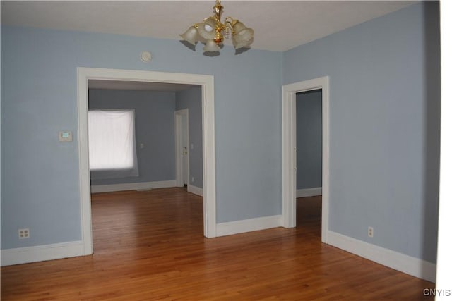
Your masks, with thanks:
<instances>
[{"instance_id":1,"label":"white door frame around the narrow doorway on the right","mask_svg":"<svg viewBox=\"0 0 452 301\"><path fill-rule=\"evenodd\" d=\"M297 226L297 110L296 94L322 90L322 229L321 241L327 242L329 219L330 132L329 77L314 78L283 85L283 226Z\"/></svg>"}]
</instances>

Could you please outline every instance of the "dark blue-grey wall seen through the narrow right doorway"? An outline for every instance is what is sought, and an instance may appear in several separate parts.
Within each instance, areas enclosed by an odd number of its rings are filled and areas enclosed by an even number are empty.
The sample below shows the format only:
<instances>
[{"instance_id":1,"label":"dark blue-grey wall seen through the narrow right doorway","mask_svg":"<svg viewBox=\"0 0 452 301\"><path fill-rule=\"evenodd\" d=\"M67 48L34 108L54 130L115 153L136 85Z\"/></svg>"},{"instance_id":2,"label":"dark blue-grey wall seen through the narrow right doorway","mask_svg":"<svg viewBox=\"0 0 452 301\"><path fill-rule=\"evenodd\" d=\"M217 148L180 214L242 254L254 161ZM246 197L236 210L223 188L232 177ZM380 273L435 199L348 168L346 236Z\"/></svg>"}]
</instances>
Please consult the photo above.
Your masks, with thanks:
<instances>
[{"instance_id":1,"label":"dark blue-grey wall seen through the narrow right doorway","mask_svg":"<svg viewBox=\"0 0 452 301\"><path fill-rule=\"evenodd\" d=\"M297 189L322 187L322 90L297 93Z\"/></svg>"}]
</instances>

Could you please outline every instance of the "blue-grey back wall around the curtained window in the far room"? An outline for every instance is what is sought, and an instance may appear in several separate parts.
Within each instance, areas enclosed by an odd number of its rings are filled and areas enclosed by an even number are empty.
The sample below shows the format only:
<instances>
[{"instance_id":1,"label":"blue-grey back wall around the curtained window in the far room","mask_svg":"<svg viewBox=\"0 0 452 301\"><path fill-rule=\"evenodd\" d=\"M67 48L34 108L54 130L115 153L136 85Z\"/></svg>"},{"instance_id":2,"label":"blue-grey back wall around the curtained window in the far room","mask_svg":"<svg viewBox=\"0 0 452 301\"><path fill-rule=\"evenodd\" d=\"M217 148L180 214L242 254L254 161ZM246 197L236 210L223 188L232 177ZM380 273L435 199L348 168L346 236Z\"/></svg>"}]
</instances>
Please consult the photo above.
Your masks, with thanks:
<instances>
[{"instance_id":1,"label":"blue-grey back wall around the curtained window in the far room","mask_svg":"<svg viewBox=\"0 0 452 301\"><path fill-rule=\"evenodd\" d=\"M135 109L138 177L91 180L91 185L139 183L175 179L175 92L89 91L90 109ZM144 148L140 148L143 143Z\"/></svg>"}]
</instances>

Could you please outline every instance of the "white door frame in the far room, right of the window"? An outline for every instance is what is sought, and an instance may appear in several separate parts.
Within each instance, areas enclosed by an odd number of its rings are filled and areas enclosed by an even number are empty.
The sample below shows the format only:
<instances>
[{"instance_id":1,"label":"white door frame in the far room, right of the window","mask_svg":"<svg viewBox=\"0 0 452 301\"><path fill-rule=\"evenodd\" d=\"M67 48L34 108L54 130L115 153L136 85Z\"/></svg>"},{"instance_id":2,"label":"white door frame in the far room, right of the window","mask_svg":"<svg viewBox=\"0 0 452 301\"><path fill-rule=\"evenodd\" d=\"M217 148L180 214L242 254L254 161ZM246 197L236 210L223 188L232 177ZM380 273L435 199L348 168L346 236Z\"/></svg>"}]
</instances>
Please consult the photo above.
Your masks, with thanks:
<instances>
[{"instance_id":1,"label":"white door frame in the far room, right of the window","mask_svg":"<svg viewBox=\"0 0 452 301\"><path fill-rule=\"evenodd\" d=\"M186 126L182 124L182 121L186 120ZM190 191L189 185L190 185L190 153L189 153L189 147L187 144L186 152L187 154L184 155L181 152L182 149L182 140L184 135L186 135L187 142L190 141L189 137L189 109L182 109L174 112L174 128L176 133L176 186L177 187L183 187L184 186L184 176L186 176L187 182L187 190ZM182 133L184 131L185 133ZM187 168L184 167L184 156L186 156L187 160ZM186 175L184 175L184 171Z\"/></svg>"}]
</instances>

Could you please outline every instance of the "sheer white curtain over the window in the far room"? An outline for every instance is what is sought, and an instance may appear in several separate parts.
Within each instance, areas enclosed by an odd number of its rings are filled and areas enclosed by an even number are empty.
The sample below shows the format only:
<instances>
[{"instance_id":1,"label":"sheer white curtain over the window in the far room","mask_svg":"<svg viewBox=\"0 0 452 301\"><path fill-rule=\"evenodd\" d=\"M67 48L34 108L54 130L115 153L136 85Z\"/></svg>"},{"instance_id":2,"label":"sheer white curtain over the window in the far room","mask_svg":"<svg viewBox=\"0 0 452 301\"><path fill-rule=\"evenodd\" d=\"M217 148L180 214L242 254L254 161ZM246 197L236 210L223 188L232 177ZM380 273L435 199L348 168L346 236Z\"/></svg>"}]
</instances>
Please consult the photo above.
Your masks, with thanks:
<instances>
[{"instance_id":1,"label":"sheer white curtain over the window in the far room","mask_svg":"<svg viewBox=\"0 0 452 301\"><path fill-rule=\"evenodd\" d=\"M135 111L88 111L88 142L92 179L138 176Z\"/></svg>"}]
</instances>

